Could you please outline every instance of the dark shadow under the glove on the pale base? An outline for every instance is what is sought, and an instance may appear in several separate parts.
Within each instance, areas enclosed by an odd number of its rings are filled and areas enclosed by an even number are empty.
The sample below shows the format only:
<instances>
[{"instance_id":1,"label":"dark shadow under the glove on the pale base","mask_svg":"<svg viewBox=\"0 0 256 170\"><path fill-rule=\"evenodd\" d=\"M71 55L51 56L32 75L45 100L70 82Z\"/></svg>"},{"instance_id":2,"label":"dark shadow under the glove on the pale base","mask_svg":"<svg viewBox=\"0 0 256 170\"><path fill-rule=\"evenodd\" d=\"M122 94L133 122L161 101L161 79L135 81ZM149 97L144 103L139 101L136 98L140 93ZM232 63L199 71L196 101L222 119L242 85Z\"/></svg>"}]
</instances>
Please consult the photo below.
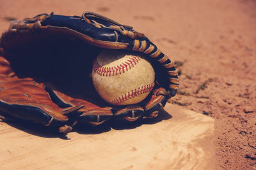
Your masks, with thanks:
<instances>
[{"instance_id":1,"label":"dark shadow under the glove on the pale base","mask_svg":"<svg viewBox=\"0 0 256 170\"><path fill-rule=\"evenodd\" d=\"M159 115L156 118L151 119L143 119L138 120L136 122L131 123L118 123L109 121L106 124L98 125L92 127L90 125L76 125L72 132L77 132L79 134L100 134L103 132L111 131L111 129L116 130L124 130L124 129L134 129L136 127L140 127L143 124L157 124L163 120L168 120L172 118L172 115L167 113L164 110L159 111ZM5 122L6 124L19 129L20 131L27 132L29 134L33 134L35 136L40 136L42 138L60 138L60 139L70 139L64 134L58 132L58 128L56 127L45 127L41 124L31 123L31 122L24 122L22 120L12 120L10 118L6 120L0 120L1 122Z\"/></svg>"}]
</instances>

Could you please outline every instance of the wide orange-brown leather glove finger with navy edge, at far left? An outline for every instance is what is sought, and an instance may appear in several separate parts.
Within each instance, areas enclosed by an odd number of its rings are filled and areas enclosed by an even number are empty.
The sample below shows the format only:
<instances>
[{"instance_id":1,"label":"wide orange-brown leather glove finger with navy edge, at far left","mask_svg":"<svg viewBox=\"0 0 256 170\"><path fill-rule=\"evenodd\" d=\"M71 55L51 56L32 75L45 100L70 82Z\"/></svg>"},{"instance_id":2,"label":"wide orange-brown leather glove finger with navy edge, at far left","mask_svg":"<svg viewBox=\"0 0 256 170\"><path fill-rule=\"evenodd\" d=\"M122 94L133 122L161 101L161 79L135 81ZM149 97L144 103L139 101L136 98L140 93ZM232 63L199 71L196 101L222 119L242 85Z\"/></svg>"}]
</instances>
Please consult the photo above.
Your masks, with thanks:
<instances>
[{"instance_id":1,"label":"wide orange-brown leather glove finger with navy edge, at far left","mask_svg":"<svg viewBox=\"0 0 256 170\"><path fill-rule=\"evenodd\" d=\"M51 101L42 84L30 78L6 78L1 82L0 110L16 118L44 125L59 125L68 121L63 109Z\"/></svg>"}]
</instances>

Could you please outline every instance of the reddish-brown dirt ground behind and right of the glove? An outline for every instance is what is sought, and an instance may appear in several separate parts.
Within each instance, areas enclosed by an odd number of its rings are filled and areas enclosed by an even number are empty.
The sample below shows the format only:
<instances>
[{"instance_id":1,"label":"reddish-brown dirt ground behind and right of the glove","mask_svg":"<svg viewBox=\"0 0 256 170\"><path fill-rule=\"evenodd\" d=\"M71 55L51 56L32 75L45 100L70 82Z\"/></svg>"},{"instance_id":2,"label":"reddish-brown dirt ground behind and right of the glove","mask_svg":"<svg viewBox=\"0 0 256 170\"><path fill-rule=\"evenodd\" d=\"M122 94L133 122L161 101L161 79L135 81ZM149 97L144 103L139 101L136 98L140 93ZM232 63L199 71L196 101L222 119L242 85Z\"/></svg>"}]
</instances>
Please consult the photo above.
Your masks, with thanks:
<instances>
[{"instance_id":1,"label":"reddish-brown dirt ground behind and right of the glove","mask_svg":"<svg viewBox=\"0 0 256 170\"><path fill-rule=\"evenodd\" d=\"M179 69L170 103L215 119L221 169L256 169L256 1L0 1L0 32L10 20L54 11L95 11L143 32Z\"/></svg>"}]
</instances>

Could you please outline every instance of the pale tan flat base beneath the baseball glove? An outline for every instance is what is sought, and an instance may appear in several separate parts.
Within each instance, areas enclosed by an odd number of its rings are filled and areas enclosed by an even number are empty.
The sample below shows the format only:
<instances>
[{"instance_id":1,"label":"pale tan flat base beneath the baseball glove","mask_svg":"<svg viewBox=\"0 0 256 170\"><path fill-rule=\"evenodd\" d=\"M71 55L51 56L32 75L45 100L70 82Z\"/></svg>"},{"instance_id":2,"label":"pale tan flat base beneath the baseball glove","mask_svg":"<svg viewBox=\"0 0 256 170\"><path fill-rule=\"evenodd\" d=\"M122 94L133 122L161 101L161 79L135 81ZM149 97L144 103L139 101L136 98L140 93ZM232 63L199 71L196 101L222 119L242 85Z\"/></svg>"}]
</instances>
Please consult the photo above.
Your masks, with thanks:
<instances>
[{"instance_id":1,"label":"pale tan flat base beneath the baseball glove","mask_svg":"<svg viewBox=\"0 0 256 170\"><path fill-rule=\"evenodd\" d=\"M160 122L77 130L0 122L0 169L214 169L210 117L167 104ZM163 116L164 115L164 116Z\"/></svg>"}]
</instances>

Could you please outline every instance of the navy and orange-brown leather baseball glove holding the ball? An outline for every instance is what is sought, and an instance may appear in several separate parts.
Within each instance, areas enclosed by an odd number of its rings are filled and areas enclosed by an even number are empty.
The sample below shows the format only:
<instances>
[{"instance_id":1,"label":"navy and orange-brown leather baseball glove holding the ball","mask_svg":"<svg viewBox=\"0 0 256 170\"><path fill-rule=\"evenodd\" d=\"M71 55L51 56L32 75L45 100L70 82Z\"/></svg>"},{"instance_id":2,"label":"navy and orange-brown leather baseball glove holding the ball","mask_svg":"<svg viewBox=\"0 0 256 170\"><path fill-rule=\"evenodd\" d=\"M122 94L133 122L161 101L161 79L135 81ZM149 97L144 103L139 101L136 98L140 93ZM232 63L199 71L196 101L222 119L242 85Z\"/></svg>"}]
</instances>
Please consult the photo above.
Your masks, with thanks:
<instances>
[{"instance_id":1,"label":"navy and orange-brown leather baseball glove holding the ball","mask_svg":"<svg viewBox=\"0 0 256 170\"><path fill-rule=\"evenodd\" d=\"M97 95L90 73L93 59L106 48L150 60L156 85L144 101L111 106ZM0 56L1 115L55 126L65 134L77 123L156 117L179 87L173 62L144 34L92 12L13 21L0 39Z\"/></svg>"}]
</instances>

